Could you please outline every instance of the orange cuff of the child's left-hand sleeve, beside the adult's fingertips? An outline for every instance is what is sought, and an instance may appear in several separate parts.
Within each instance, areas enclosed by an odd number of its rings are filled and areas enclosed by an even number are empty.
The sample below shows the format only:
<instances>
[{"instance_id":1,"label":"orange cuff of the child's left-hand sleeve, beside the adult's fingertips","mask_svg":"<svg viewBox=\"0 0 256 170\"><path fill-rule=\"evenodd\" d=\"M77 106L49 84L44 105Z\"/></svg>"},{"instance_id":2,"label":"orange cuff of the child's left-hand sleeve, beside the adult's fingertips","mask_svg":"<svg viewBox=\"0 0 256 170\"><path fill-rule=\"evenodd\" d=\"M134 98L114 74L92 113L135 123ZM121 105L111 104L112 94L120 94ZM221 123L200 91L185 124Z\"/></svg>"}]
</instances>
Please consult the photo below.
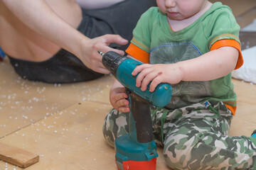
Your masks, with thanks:
<instances>
[{"instance_id":1,"label":"orange cuff of the child's left-hand sleeve, beside the adult's fingertips","mask_svg":"<svg viewBox=\"0 0 256 170\"><path fill-rule=\"evenodd\" d=\"M129 47L127 48L127 50L125 50L125 52L141 62L149 63L149 52L142 50L141 48L137 47L132 43L130 43Z\"/></svg>"}]
</instances>

